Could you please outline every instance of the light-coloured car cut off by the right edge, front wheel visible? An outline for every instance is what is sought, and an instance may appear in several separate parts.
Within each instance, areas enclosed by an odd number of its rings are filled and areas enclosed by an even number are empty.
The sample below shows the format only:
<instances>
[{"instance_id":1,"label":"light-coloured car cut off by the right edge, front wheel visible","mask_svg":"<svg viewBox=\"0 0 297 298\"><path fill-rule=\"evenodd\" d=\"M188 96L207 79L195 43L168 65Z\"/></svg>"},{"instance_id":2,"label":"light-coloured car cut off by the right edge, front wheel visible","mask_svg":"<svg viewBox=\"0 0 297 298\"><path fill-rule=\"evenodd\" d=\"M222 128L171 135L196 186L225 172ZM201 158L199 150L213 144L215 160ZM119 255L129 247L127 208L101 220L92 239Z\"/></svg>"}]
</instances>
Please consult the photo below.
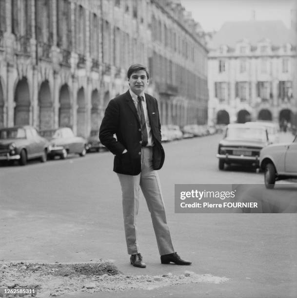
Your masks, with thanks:
<instances>
[{"instance_id":1,"label":"light-coloured car cut off by the right edge, front wheel visible","mask_svg":"<svg viewBox=\"0 0 297 298\"><path fill-rule=\"evenodd\" d=\"M266 188L276 181L297 178L297 135L292 143L272 144L261 150L260 168L264 170Z\"/></svg>"}]
</instances>

